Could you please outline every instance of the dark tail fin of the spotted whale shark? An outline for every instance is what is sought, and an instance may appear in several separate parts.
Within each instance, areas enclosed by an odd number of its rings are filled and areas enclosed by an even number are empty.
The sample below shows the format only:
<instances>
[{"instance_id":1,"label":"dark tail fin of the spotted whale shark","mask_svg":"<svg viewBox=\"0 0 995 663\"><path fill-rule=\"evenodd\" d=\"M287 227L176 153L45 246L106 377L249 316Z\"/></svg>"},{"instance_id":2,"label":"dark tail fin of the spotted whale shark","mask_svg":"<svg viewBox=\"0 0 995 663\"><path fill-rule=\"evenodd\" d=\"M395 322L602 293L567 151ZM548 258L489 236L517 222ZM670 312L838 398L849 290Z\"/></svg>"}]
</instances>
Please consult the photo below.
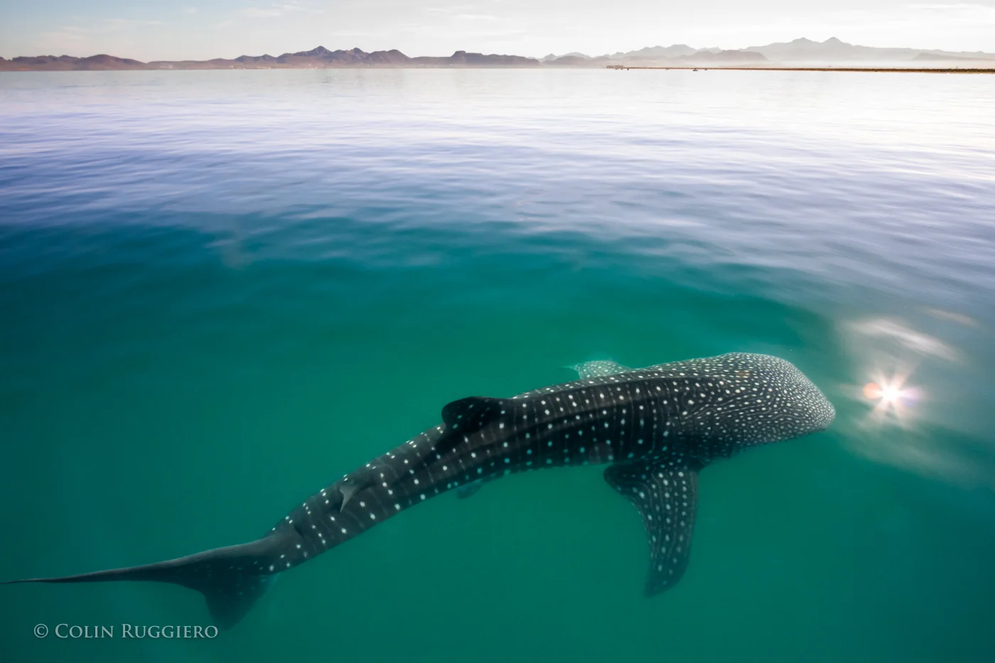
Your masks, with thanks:
<instances>
[{"instance_id":1,"label":"dark tail fin of the spotted whale shark","mask_svg":"<svg viewBox=\"0 0 995 663\"><path fill-rule=\"evenodd\" d=\"M127 566L60 577L8 580L19 582L104 582L111 580L154 580L173 582L204 594L214 623L228 629L244 617L262 596L276 575L264 565L271 548L266 538L241 546L198 552L153 564Z\"/></svg>"}]
</instances>

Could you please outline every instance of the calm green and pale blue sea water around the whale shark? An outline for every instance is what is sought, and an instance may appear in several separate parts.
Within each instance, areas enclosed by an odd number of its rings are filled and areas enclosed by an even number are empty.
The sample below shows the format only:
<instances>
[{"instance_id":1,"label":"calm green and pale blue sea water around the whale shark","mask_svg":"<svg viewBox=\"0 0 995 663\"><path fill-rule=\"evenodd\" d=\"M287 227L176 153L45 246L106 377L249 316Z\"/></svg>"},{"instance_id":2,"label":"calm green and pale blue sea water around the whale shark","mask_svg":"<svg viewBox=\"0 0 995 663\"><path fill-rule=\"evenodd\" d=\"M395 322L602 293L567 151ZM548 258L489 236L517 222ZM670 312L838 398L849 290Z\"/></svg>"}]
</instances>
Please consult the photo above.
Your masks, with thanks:
<instances>
[{"instance_id":1,"label":"calm green and pale blue sea water around the whale shark","mask_svg":"<svg viewBox=\"0 0 995 663\"><path fill-rule=\"evenodd\" d=\"M121 638L210 624L178 586L0 587L0 658L990 663L993 81L0 75L0 579L250 541L447 402L587 359L777 354L838 411L704 470L652 599L636 511L551 470L214 638Z\"/></svg>"}]
</instances>

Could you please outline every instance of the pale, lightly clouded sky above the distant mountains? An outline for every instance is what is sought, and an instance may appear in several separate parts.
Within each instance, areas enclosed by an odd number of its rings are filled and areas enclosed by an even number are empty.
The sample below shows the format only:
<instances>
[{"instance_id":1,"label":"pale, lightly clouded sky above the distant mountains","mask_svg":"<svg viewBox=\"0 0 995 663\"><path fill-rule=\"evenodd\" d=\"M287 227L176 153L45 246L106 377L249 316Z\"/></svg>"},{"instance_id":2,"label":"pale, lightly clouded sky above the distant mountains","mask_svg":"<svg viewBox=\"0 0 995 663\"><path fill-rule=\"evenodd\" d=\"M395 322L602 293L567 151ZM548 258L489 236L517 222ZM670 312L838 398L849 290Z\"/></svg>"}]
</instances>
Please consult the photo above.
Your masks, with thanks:
<instances>
[{"instance_id":1,"label":"pale, lightly clouded sky above the distant mountains","mask_svg":"<svg viewBox=\"0 0 995 663\"><path fill-rule=\"evenodd\" d=\"M4 58L208 60L319 45L541 57L798 37L995 53L995 0L0 0Z\"/></svg>"}]
</instances>

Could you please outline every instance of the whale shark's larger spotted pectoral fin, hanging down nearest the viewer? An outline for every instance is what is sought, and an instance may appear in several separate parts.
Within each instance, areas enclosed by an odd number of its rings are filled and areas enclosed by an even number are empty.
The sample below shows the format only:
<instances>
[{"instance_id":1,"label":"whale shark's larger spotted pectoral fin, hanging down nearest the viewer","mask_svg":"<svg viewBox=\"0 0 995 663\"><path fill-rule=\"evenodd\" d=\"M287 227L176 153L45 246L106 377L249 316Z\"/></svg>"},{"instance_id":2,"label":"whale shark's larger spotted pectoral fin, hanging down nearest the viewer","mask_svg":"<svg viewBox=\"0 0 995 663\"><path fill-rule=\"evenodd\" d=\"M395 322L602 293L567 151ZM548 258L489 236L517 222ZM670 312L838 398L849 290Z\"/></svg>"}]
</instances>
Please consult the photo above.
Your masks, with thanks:
<instances>
[{"instance_id":1,"label":"whale shark's larger spotted pectoral fin, hanging down nearest the viewer","mask_svg":"<svg viewBox=\"0 0 995 663\"><path fill-rule=\"evenodd\" d=\"M605 481L636 505L650 544L646 595L670 589L684 575L697 511L697 468L631 461L610 465Z\"/></svg>"}]
</instances>

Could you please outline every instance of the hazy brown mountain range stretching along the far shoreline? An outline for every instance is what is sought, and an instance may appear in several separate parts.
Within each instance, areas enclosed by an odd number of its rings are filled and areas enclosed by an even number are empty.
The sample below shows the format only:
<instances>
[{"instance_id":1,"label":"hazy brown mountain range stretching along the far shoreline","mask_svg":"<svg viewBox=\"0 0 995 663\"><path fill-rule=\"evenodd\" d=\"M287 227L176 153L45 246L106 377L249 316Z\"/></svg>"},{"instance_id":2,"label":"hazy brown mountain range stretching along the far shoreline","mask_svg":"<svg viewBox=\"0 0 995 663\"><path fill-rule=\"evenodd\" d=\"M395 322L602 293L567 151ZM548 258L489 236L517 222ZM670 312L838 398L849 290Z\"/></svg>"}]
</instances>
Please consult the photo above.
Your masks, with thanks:
<instances>
[{"instance_id":1,"label":"hazy brown mountain range stretching along the far shoreline","mask_svg":"<svg viewBox=\"0 0 995 663\"><path fill-rule=\"evenodd\" d=\"M611 67L611 66L708 66L777 67L833 66L890 63L938 67L969 63L995 67L995 54L936 51L922 49L882 49L847 44L835 37L825 42L796 39L791 42L751 46L743 50L725 51L719 48L696 49L686 44L652 46L638 51L591 57L583 53L562 56L547 55L541 60L511 55L484 55L457 51L448 58L409 58L400 51L365 53L360 49L329 51L323 46L310 51L285 53L282 56L242 56L234 60L183 60L178 62L138 62L109 55L89 58L71 56L0 58L0 71L105 71L105 70L188 70L188 69L337 69L337 68L404 68L404 67Z\"/></svg>"}]
</instances>

